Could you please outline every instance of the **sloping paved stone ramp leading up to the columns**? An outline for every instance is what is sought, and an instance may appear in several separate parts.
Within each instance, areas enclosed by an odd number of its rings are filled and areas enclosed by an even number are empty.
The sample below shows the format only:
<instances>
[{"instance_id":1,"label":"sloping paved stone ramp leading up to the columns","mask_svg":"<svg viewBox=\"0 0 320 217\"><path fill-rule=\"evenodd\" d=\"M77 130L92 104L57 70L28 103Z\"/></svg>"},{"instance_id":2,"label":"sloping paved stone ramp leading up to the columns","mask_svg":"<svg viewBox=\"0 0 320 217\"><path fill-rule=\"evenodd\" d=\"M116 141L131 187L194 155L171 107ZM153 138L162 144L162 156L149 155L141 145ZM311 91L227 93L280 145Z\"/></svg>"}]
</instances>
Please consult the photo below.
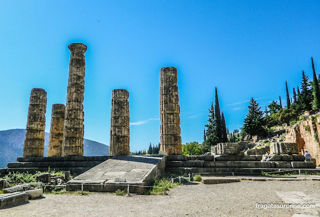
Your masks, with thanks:
<instances>
[{"instance_id":1,"label":"sloping paved stone ramp leading up to the columns","mask_svg":"<svg viewBox=\"0 0 320 217\"><path fill-rule=\"evenodd\" d=\"M87 172L70 180L67 191L81 189L89 192L115 192L127 189L130 193L141 193L144 186L157 175L164 173L165 157L114 156Z\"/></svg>"}]
</instances>

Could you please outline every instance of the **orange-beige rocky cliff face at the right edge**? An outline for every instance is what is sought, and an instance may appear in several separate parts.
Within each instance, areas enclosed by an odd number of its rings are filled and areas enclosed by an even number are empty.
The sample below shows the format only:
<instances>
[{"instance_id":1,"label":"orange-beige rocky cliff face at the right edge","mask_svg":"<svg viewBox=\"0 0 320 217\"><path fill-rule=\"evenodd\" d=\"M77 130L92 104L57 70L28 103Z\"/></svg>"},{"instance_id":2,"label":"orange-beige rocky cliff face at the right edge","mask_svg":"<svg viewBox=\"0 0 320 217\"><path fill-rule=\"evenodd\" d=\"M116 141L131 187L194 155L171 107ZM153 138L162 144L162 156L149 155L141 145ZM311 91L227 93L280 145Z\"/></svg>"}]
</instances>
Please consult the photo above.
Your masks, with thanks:
<instances>
[{"instance_id":1,"label":"orange-beige rocky cliff face at the right edge","mask_svg":"<svg viewBox=\"0 0 320 217\"><path fill-rule=\"evenodd\" d=\"M317 167L320 166L320 116L303 116L303 120L286 128L285 142L295 142L298 151L307 150L315 159ZM320 135L319 135L320 136Z\"/></svg>"}]
</instances>

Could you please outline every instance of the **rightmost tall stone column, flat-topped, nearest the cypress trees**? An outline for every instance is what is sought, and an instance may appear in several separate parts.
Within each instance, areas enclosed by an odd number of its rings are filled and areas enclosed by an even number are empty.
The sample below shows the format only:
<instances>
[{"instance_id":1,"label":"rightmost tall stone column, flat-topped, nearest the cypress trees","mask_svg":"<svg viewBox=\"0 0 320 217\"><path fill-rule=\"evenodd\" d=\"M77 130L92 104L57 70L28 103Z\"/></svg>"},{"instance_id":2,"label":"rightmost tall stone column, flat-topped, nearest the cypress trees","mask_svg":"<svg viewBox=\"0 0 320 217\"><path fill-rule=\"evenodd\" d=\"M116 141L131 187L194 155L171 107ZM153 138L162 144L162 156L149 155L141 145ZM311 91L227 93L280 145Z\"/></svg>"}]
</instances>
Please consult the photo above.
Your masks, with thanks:
<instances>
[{"instance_id":1,"label":"rightmost tall stone column, flat-topped, nearest the cypress trees","mask_svg":"<svg viewBox=\"0 0 320 217\"><path fill-rule=\"evenodd\" d=\"M160 70L160 151L166 155L182 154L177 76L175 67Z\"/></svg>"}]
</instances>

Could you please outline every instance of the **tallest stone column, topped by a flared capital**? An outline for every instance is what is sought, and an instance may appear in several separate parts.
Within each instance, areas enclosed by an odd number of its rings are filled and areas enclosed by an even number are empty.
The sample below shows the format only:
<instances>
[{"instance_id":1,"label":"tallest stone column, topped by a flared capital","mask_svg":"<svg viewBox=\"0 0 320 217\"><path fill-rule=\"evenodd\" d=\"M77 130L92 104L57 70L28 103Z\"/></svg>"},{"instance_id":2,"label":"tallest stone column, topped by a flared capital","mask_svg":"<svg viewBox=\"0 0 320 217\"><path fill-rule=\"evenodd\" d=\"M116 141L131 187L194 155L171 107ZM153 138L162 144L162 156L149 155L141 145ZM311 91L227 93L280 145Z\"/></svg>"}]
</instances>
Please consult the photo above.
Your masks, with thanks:
<instances>
[{"instance_id":1,"label":"tallest stone column, topped by a flared capital","mask_svg":"<svg viewBox=\"0 0 320 217\"><path fill-rule=\"evenodd\" d=\"M85 57L87 46L82 43L68 45L71 52L69 80L65 105L62 156L83 156L83 94Z\"/></svg>"}]
</instances>

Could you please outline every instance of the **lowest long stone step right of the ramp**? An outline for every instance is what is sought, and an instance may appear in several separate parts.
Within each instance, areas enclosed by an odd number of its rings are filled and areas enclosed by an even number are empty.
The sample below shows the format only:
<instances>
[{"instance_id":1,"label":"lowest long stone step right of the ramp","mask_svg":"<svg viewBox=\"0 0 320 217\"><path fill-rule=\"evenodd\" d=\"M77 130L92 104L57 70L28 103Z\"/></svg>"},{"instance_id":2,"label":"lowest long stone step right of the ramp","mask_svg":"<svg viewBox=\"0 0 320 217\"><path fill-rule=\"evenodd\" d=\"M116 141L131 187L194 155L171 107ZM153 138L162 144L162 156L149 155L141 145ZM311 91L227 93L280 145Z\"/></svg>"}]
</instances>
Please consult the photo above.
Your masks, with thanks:
<instances>
[{"instance_id":1,"label":"lowest long stone step right of the ramp","mask_svg":"<svg viewBox=\"0 0 320 217\"><path fill-rule=\"evenodd\" d=\"M185 175L198 173L201 176L208 176L205 174L223 176L223 175L257 175L260 176L262 172L270 173L270 172L283 172L286 173L298 173L298 170L301 174L311 174L311 173L320 173L320 169L276 169L276 168L165 168L166 173L177 174L177 175Z\"/></svg>"}]
</instances>

